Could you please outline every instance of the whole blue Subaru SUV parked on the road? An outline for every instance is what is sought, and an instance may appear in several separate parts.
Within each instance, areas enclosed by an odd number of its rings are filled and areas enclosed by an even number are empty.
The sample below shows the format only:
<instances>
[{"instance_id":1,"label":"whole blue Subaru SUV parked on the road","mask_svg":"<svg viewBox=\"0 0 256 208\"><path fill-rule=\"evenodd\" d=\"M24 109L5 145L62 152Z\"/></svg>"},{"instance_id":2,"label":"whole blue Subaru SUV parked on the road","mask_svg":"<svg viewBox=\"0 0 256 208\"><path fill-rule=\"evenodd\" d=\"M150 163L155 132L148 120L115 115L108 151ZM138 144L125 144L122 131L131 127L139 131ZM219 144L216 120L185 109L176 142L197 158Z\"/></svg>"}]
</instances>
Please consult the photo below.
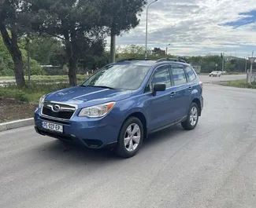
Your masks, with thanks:
<instances>
[{"instance_id":1,"label":"whole blue Subaru SUV parked on the road","mask_svg":"<svg viewBox=\"0 0 256 208\"><path fill-rule=\"evenodd\" d=\"M87 148L111 146L129 158L149 133L177 123L195 129L202 108L202 82L190 64L126 59L41 97L35 130Z\"/></svg>"}]
</instances>

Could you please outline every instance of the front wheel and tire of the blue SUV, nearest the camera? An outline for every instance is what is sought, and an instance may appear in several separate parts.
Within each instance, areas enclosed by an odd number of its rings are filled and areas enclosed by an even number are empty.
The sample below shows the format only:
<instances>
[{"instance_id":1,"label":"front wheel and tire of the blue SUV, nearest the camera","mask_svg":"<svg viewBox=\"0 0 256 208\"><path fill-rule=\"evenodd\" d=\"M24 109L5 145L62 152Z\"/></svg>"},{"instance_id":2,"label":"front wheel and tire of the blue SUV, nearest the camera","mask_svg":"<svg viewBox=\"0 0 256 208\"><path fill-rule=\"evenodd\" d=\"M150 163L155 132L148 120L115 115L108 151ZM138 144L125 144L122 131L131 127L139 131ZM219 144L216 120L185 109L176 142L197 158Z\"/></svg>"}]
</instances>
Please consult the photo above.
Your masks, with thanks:
<instances>
[{"instance_id":1,"label":"front wheel and tire of the blue SUV, nearest the camera","mask_svg":"<svg viewBox=\"0 0 256 208\"><path fill-rule=\"evenodd\" d=\"M129 130L129 128L131 129ZM129 118L121 127L117 147L115 148L116 154L122 158L133 157L143 144L143 137L144 131L142 122L135 117Z\"/></svg>"}]
</instances>

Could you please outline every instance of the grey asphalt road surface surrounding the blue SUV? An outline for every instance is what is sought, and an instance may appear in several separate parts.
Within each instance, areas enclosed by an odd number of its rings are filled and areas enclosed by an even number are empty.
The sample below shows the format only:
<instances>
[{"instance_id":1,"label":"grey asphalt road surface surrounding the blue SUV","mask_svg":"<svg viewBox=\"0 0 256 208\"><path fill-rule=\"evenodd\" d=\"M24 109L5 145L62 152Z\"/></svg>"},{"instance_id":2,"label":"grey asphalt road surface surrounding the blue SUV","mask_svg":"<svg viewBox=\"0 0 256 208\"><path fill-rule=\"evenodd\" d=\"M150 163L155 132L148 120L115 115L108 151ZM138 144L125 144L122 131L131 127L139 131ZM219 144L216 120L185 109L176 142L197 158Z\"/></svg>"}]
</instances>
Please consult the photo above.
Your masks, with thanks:
<instances>
[{"instance_id":1,"label":"grey asphalt road surface surrounding the blue SUV","mask_svg":"<svg viewBox=\"0 0 256 208\"><path fill-rule=\"evenodd\" d=\"M0 133L0 207L255 207L256 90L203 90L195 130L150 135L132 159L32 127Z\"/></svg>"}]
</instances>

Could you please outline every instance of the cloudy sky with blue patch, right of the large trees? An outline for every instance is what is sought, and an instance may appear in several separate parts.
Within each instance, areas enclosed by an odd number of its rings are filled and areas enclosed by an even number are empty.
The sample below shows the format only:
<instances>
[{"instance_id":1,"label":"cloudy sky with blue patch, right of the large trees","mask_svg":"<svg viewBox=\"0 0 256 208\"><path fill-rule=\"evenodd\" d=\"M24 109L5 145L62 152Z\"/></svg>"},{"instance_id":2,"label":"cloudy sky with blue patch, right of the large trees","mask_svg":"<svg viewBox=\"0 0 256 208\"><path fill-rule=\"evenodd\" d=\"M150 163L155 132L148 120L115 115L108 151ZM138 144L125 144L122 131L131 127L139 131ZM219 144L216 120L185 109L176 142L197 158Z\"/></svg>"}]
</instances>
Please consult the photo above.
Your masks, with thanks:
<instances>
[{"instance_id":1,"label":"cloudy sky with blue patch, right of the large trees","mask_svg":"<svg viewBox=\"0 0 256 208\"><path fill-rule=\"evenodd\" d=\"M117 37L117 46L145 45L146 8L140 19L139 26ZM149 9L148 47L169 44L169 53L180 56L250 57L253 50L256 56L256 1L158 0Z\"/></svg>"}]
</instances>

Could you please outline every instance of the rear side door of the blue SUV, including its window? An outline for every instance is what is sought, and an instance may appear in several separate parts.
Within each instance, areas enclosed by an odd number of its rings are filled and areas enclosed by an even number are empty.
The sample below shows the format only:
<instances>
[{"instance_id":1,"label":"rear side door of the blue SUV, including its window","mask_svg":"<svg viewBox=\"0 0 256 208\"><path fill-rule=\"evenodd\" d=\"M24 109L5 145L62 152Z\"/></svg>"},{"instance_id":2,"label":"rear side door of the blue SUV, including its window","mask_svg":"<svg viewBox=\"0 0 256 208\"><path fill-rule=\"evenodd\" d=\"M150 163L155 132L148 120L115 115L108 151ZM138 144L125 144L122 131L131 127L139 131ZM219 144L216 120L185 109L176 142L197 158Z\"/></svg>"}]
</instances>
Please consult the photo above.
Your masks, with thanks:
<instances>
[{"instance_id":1,"label":"rear side door of the blue SUV, including its window","mask_svg":"<svg viewBox=\"0 0 256 208\"><path fill-rule=\"evenodd\" d=\"M189 97L189 89L187 86L187 77L184 71L184 66L181 64L171 65L171 76L173 79L171 103L173 118L176 122L187 115L187 102Z\"/></svg>"}]
</instances>

